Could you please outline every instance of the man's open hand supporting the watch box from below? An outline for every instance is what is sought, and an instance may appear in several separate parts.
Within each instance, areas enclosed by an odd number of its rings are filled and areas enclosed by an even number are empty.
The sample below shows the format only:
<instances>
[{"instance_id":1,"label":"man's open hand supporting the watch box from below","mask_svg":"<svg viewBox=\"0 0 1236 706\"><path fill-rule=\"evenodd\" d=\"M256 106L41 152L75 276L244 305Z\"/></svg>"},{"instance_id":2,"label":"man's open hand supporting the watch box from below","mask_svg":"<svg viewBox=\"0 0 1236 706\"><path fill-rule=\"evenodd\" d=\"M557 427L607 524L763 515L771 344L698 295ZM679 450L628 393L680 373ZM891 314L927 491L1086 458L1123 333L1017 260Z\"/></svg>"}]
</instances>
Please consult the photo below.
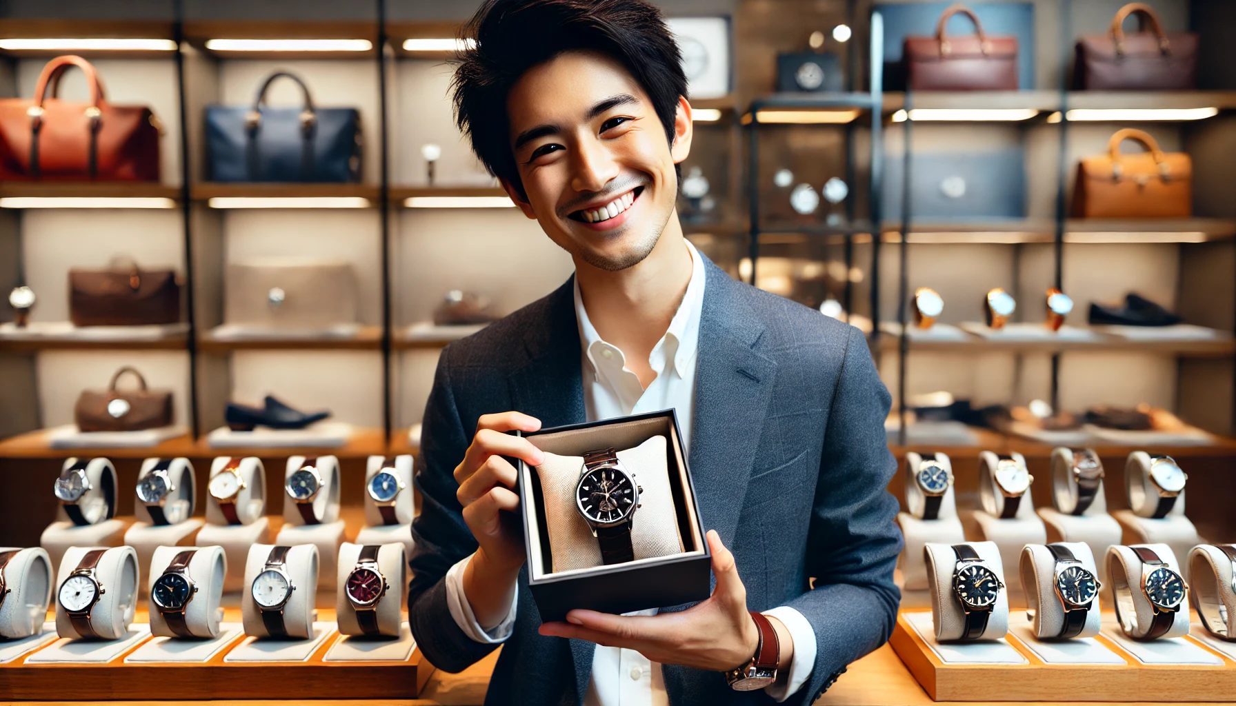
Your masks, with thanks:
<instances>
[{"instance_id":1,"label":"man's open hand supporting the watch box from below","mask_svg":"<svg viewBox=\"0 0 1236 706\"><path fill-rule=\"evenodd\" d=\"M760 633L747 612L747 589L738 577L734 555L708 532L717 587L707 601L679 613L623 617L596 611L571 611L565 623L545 623L540 634L586 639L607 647L634 649L653 661L726 671L750 661ZM775 624L775 623L774 623ZM777 631L782 634L781 631ZM794 652L789 632L781 638L784 664Z\"/></svg>"}]
</instances>

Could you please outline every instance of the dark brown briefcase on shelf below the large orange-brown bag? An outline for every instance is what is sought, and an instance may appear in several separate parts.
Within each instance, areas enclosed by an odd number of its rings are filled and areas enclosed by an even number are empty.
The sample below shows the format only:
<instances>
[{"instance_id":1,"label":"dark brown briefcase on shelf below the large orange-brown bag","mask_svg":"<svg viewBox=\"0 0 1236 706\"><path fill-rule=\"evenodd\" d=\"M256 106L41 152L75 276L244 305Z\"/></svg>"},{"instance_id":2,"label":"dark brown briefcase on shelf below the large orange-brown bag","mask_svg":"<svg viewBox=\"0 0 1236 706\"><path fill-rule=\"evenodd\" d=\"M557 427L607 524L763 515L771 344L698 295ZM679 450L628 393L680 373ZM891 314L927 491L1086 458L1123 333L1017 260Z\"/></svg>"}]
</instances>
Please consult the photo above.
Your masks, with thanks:
<instances>
[{"instance_id":1,"label":"dark brown briefcase on shelf below the large orange-brown bag","mask_svg":"<svg viewBox=\"0 0 1236 706\"><path fill-rule=\"evenodd\" d=\"M69 270L74 326L142 326L180 320L180 282L173 270L141 270L117 258L106 270Z\"/></svg>"}]
</instances>

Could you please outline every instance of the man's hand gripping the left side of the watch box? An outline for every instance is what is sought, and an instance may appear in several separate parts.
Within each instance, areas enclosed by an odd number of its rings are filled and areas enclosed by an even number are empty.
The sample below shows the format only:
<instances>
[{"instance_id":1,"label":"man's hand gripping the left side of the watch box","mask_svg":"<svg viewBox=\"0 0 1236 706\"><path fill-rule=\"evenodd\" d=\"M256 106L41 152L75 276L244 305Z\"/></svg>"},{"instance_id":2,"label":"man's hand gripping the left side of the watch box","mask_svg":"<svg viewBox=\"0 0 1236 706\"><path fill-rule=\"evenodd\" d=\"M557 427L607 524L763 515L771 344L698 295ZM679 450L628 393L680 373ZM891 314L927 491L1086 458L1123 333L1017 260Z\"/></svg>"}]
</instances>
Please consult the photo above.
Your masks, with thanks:
<instances>
[{"instance_id":1,"label":"man's hand gripping the left side of the watch box","mask_svg":"<svg viewBox=\"0 0 1236 706\"><path fill-rule=\"evenodd\" d=\"M464 593L481 627L488 629L510 611L519 568L524 564L522 523L510 516L519 509L515 495L515 467L503 456L520 459L539 466L545 453L528 439L507 432L535 432L540 419L519 412L486 414L476 424L476 435L455 467L459 491L455 497L464 506L464 522L480 545L464 571Z\"/></svg>"}]
</instances>

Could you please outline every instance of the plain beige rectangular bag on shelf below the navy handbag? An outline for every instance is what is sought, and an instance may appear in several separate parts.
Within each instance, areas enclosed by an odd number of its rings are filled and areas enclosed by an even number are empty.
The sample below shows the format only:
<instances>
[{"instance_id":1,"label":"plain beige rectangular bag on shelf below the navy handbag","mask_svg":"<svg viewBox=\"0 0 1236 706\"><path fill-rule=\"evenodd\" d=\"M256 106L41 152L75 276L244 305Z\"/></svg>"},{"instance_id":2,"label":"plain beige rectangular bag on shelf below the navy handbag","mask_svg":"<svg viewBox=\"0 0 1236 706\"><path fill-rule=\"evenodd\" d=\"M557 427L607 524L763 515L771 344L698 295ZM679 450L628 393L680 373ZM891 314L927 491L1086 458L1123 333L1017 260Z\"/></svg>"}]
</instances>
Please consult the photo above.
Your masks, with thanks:
<instances>
[{"instance_id":1,"label":"plain beige rectangular bag on shelf below the navy handbag","mask_svg":"<svg viewBox=\"0 0 1236 706\"><path fill-rule=\"evenodd\" d=\"M323 330L356 323L356 276L339 261L252 260L227 266L224 321Z\"/></svg>"}]
</instances>

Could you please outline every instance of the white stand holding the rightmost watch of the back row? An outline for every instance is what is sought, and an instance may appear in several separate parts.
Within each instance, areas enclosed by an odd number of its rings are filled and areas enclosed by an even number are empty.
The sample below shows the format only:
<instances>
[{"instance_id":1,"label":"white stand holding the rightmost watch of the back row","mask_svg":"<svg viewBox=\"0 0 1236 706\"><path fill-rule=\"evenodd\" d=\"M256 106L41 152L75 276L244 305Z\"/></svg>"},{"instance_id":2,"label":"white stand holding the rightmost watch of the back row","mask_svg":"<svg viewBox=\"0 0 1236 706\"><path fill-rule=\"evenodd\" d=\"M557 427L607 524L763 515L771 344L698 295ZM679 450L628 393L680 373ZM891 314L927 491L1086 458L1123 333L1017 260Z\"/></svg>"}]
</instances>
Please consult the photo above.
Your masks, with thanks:
<instances>
[{"instance_id":1,"label":"white stand holding the rightmost watch of the back row","mask_svg":"<svg viewBox=\"0 0 1236 706\"><path fill-rule=\"evenodd\" d=\"M1128 507L1111 513L1124 530L1125 544L1167 544L1177 556L1188 556L1189 551L1205 540L1198 537L1198 528L1184 516L1184 492L1177 496L1167 517L1154 519L1154 507L1158 504L1158 491L1151 481L1151 456L1146 451L1128 454L1125 462L1125 492ZM1188 565L1180 575L1189 581Z\"/></svg>"}]
</instances>

